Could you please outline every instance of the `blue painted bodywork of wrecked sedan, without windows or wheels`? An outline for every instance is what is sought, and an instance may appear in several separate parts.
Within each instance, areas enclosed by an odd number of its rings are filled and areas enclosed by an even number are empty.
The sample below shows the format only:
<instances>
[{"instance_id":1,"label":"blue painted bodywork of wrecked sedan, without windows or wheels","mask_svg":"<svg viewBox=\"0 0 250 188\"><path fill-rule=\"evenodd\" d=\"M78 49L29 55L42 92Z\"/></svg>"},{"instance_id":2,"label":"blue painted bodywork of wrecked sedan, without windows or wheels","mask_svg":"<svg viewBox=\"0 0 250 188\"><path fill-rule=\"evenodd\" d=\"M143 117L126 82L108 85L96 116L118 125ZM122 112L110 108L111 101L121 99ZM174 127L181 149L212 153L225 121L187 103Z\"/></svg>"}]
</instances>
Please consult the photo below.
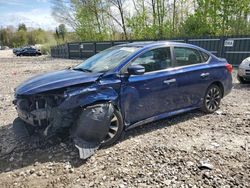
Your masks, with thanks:
<instances>
[{"instance_id":1,"label":"blue painted bodywork of wrecked sedan, without windows or wheels","mask_svg":"<svg viewBox=\"0 0 250 188\"><path fill-rule=\"evenodd\" d=\"M232 76L227 62L197 46L174 42L148 42L120 45L138 50L107 72L62 70L34 77L17 89L15 95L33 96L51 90L63 90L60 109L85 107L103 101L112 102L121 112L127 127L200 108L209 85L218 82L224 96L231 91ZM125 67L140 54L160 47L190 47L209 54L206 63L148 72L143 75L123 74ZM175 62L175 59L173 59ZM201 74L208 72L207 78ZM166 84L166 80L174 79Z\"/></svg>"}]
</instances>

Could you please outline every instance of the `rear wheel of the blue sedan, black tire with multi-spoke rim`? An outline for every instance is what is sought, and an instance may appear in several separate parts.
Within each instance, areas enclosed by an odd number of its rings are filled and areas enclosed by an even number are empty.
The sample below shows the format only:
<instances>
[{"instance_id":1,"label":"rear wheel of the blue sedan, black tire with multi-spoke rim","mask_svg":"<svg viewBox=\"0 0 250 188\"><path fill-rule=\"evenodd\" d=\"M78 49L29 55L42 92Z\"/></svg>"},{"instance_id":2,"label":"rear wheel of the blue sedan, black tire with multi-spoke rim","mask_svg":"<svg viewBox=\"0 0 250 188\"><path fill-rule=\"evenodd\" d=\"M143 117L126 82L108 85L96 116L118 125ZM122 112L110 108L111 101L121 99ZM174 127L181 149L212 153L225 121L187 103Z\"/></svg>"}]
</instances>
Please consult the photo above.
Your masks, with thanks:
<instances>
[{"instance_id":1,"label":"rear wheel of the blue sedan, black tire with multi-spoke rim","mask_svg":"<svg viewBox=\"0 0 250 188\"><path fill-rule=\"evenodd\" d=\"M222 98L222 90L216 85L212 84L208 87L203 100L203 106L201 110L205 113L213 113L219 109Z\"/></svg>"}]
</instances>

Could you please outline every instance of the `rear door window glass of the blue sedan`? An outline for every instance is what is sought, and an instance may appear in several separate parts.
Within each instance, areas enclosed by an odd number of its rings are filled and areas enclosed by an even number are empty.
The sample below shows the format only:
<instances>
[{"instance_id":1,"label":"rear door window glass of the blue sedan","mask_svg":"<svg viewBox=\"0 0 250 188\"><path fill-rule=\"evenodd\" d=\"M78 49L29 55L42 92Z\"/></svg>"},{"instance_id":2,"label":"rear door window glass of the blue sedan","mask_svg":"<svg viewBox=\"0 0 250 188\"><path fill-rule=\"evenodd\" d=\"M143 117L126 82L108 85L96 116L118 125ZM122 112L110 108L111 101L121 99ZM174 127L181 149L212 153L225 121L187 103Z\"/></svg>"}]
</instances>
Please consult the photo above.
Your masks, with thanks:
<instances>
[{"instance_id":1,"label":"rear door window glass of the blue sedan","mask_svg":"<svg viewBox=\"0 0 250 188\"><path fill-rule=\"evenodd\" d=\"M202 63L199 51L192 48L174 47L176 67Z\"/></svg>"}]
</instances>

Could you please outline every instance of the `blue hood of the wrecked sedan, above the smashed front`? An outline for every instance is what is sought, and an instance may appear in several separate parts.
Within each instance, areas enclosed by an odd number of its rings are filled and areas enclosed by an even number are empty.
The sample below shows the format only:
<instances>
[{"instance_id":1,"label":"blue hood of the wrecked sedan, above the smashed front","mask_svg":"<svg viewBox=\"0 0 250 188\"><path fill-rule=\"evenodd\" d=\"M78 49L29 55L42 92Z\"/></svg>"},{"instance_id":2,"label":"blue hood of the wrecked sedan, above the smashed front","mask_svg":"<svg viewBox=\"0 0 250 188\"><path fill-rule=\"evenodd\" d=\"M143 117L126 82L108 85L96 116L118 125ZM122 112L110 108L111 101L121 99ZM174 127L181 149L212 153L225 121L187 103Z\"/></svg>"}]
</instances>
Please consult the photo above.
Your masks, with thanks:
<instances>
[{"instance_id":1,"label":"blue hood of the wrecked sedan, above the smashed front","mask_svg":"<svg viewBox=\"0 0 250 188\"><path fill-rule=\"evenodd\" d=\"M32 95L71 85L94 82L102 73L88 73L71 69L41 74L23 82L16 95Z\"/></svg>"}]
</instances>

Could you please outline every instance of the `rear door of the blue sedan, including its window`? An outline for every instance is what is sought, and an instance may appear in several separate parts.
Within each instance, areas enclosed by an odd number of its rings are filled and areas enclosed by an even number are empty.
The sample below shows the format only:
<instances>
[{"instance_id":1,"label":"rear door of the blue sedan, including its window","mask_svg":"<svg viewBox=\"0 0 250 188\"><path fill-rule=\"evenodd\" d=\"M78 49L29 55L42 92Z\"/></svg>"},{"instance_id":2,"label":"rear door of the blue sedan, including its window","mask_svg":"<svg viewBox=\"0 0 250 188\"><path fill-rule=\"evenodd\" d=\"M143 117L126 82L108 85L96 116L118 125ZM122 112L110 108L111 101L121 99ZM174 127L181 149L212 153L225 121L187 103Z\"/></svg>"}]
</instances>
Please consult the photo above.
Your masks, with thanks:
<instances>
[{"instance_id":1,"label":"rear door of the blue sedan, including its window","mask_svg":"<svg viewBox=\"0 0 250 188\"><path fill-rule=\"evenodd\" d=\"M190 47L173 48L174 72L178 85L176 109L199 107L211 83L209 55Z\"/></svg>"}]
</instances>

